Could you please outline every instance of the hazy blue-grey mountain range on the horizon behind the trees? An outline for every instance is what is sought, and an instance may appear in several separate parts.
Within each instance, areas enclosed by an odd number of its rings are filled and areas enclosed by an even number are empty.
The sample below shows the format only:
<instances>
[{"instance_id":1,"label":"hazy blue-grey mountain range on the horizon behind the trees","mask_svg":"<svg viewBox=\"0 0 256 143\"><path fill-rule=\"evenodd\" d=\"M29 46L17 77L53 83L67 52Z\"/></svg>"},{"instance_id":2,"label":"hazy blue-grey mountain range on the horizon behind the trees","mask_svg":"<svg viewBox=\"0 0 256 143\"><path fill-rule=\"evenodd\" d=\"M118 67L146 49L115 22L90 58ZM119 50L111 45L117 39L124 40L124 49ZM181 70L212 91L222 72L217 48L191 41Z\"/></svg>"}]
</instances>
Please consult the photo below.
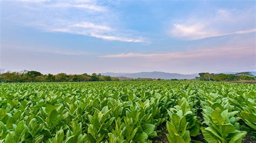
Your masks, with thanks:
<instances>
[{"instance_id":1,"label":"hazy blue-grey mountain range on the horizon behind the trees","mask_svg":"<svg viewBox=\"0 0 256 143\"><path fill-rule=\"evenodd\" d=\"M250 71L254 76L256 76L256 71ZM224 74L235 74L236 72L228 71ZM193 79L199 77L199 74L178 74L178 73L165 73L162 71L150 71L150 72L140 72L140 73L100 73L101 75L109 75L112 77L128 77L128 78L161 78L161 79ZM220 74L220 73L217 73Z\"/></svg>"}]
</instances>

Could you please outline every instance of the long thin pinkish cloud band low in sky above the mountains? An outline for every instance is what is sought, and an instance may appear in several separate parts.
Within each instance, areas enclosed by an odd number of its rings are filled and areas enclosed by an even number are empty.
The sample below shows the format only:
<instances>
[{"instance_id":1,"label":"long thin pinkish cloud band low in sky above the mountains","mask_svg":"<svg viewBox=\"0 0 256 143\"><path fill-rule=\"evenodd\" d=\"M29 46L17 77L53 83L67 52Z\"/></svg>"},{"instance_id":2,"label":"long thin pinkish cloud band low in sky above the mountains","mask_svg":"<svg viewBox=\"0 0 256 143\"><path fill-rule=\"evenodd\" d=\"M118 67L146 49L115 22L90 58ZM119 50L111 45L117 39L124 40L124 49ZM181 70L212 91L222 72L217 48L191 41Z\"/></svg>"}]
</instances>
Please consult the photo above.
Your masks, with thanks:
<instances>
[{"instance_id":1,"label":"long thin pinkish cloud band low in sky above the mountains","mask_svg":"<svg viewBox=\"0 0 256 143\"><path fill-rule=\"evenodd\" d=\"M251 55L255 52L252 47L221 47L198 49L197 51L172 52L172 53L121 53L100 56L102 58L147 58L152 60L170 60L170 59L197 59L197 58L218 58L219 56L227 56L238 58Z\"/></svg>"}]
</instances>

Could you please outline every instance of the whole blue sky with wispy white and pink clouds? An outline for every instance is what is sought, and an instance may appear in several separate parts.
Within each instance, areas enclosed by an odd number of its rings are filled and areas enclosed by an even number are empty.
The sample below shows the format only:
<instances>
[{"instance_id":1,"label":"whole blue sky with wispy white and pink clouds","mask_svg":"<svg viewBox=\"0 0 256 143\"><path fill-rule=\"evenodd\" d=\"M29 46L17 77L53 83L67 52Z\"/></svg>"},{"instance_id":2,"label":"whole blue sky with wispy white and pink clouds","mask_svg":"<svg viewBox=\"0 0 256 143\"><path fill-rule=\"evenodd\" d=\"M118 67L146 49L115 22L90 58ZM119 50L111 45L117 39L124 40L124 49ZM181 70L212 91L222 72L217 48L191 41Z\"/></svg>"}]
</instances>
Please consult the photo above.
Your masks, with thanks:
<instances>
[{"instance_id":1,"label":"whole blue sky with wispy white and pink clouds","mask_svg":"<svg viewBox=\"0 0 256 143\"><path fill-rule=\"evenodd\" d=\"M6 70L256 70L255 1L0 1Z\"/></svg>"}]
</instances>

